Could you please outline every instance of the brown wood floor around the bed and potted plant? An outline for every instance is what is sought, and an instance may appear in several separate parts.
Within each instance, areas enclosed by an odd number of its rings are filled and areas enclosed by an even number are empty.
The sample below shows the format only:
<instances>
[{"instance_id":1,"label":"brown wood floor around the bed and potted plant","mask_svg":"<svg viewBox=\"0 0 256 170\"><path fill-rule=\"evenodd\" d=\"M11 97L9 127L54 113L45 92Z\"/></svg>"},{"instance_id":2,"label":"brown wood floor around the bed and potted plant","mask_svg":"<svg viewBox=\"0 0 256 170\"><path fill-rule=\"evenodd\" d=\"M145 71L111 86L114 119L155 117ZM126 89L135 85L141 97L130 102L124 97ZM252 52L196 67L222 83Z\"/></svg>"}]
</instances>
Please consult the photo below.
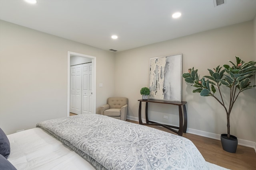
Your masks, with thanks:
<instances>
[{"instance_id":1,"label":"brown wood floor around the bed and potted plant","mask_svg":"<svg viewBox=\"0 0 256 170\"><path fill-rule=\"evenodd\" d=\"M76 114L70 113L70 116L71 115ZM126 121L138 124L137 121L128 119ZM150 127L173 133L172 131L160 126ZM184 133L183 137L188 138L194 143L194 145L196 145L207 162L231 170L256 170L256 152L253 148L238 145L236 153L229 153L222 149L221 143L218 140L193 135L190 133Z\"/></svg>"}]
</instances>

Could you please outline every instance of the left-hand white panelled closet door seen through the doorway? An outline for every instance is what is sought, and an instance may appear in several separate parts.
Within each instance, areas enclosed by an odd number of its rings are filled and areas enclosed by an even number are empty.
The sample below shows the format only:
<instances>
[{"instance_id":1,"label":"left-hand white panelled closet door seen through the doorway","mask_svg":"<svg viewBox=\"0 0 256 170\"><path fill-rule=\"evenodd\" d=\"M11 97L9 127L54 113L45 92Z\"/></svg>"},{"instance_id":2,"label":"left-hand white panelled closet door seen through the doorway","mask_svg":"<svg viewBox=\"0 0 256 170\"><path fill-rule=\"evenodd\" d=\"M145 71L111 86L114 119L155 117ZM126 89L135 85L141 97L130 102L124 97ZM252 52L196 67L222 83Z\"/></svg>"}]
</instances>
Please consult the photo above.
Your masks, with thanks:
<instances>
[{"instance_id":1,"label":"left-hand white panelled closet door seen through the doorway","mask_svg":"<svg viewBox=\"0 0 256 170\"><path fill-rule=\"evenodd\" d=\"M70 66L70 112L81 114L81 65Z\"/></svg>"}]
</instances>

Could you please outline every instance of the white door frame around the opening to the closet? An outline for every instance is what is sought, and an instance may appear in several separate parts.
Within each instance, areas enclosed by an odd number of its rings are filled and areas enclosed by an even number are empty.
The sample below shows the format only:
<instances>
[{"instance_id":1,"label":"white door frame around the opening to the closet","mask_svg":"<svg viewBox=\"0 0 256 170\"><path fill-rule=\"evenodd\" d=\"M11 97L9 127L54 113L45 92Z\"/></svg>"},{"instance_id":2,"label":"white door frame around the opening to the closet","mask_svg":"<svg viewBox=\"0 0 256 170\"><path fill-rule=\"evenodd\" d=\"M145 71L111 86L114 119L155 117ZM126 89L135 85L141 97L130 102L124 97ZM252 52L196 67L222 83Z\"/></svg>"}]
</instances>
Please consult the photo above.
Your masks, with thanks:
<instances>
[{"instance_id":1,"label":"white door frame around the opening to the closet","mask_svg":"<svg viewBox=\"0 0 256 170\"><path fill-rule=\"evenodd\" d=\"M76 55L78 57L90 58L92 59L92 113L96 113L96 57L90 55L84 55L80 53L74 53L68 51L68 96L67 96L67 116L70 113L70 57L71 55Z\"/></svg>"}]
</instances>

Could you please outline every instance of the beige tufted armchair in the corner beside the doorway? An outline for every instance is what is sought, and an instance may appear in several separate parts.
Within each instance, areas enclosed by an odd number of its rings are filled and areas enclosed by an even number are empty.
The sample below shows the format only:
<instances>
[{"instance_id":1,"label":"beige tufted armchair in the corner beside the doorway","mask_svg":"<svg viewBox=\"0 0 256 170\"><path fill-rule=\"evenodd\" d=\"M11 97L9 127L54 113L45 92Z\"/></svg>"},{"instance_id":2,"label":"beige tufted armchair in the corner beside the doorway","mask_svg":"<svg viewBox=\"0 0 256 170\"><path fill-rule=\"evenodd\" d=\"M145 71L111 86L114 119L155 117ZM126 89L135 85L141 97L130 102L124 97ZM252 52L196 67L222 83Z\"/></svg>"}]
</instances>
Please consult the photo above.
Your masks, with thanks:
<instances>
[{"instance_id":1,"label":"beige tufted armchair in the corner beside the doorway","mask_svg":"<svg viewBox=\"0 0 256 170\"><path fill-rule=\"evenodd\" d=\"M126 121L128 98L108 98L108 104L100 107L100 114Z\"/></svg>"}]
</instances>

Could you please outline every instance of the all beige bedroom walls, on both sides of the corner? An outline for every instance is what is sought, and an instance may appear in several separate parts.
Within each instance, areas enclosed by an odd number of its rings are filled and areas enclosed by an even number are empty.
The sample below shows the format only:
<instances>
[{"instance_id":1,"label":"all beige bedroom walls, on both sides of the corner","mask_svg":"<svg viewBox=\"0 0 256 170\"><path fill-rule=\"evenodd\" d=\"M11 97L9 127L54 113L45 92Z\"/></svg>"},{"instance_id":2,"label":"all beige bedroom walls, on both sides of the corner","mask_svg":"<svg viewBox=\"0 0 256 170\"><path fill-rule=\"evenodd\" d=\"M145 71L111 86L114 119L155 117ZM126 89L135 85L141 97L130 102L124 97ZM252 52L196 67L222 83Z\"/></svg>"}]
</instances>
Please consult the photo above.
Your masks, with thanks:
<instances>
[{"instance_id":1,"label":"all beige bedroom walls, on both sides of the corner","mask_svg":"<svg viewBox=\"0 0 256 170\"><path fill-rule=\"evenodd\" d=\"M66 116L68 51L96 57L97 113L108 97L126 96L128 117L137 118L140 88L148 86L149 82L150 58L182 53L182 72L194 66L201 77L208 74L207 68L234 61L235 55L244 61L256 60L255 23L254 19L112 53L0 21L0 127L10 134L32 128L38 121ZM98 87L99 83L103 83L102 88ZM192 89L182 81L182 100L188 102L188 128L226 133L222 107L213 98L192 94ZM231 134L239 139L256 141L254 94L253 89L245 91L234 106ZM150 104L149 118L178 125L176 111L176 107ZM169 119L162 119L163 115L168 115Z\"/></svg>"}]
</instances>

